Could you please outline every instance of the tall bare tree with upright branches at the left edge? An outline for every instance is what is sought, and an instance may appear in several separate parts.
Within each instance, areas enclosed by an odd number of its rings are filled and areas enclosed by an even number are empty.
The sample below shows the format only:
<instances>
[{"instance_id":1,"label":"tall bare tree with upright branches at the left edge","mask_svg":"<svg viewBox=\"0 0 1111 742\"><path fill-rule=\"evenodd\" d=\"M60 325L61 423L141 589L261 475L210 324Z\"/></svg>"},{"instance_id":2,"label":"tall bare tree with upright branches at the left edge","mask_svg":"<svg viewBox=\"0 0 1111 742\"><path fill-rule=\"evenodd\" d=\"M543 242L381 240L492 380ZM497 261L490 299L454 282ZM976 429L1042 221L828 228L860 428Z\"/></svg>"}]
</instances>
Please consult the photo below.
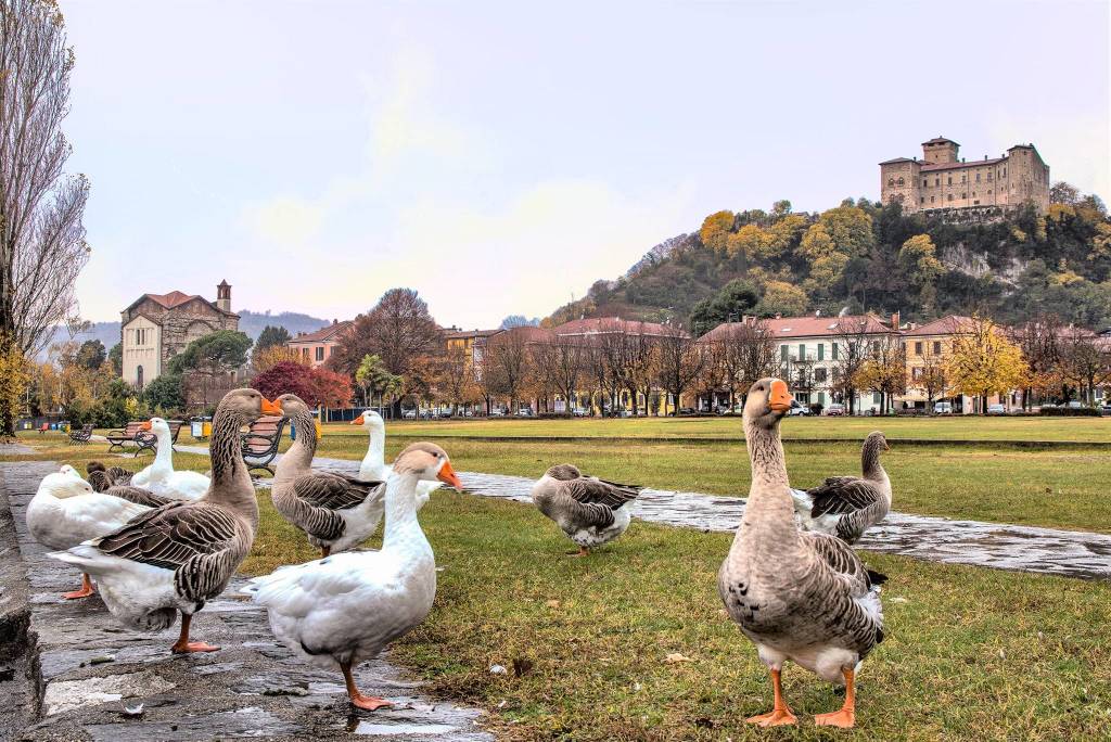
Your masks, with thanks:
<instances>
[{"instance_id":1,"label":"tall bare tree with upright branches at the left edge","mask_svg":"<svg viewBox=\"0 0 1111 742\"><path fill-rule=\"evenodd\" d=\"M62 172L72 69L54 2L0 3L0 357L34 355L76 314L89 182ZM16 432L10 399L0 395L0 437Z\"/></svg>"}]
</instances>

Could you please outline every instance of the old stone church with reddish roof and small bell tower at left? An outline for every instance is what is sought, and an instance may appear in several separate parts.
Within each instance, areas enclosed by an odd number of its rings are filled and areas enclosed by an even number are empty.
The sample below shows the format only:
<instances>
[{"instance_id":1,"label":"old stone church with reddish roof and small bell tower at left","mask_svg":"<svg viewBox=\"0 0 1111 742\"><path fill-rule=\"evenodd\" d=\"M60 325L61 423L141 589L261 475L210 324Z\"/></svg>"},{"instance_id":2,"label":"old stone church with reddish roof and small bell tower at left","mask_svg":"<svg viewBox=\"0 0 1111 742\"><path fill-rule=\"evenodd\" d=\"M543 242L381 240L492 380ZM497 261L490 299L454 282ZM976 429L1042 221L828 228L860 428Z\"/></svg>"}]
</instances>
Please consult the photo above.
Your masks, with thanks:
<instances>
[{"instance_id":1,"label":"old stone church with reddish roof and small bell tower at left","mask_svg":"<svg viewBox=\"0 0 1111 742\"><path fill-rule=\"evenodd\" d=\"M227 281L217 287L217 295L212 302L181 291L144 293L120 312L123 380L142 389L193 340L217 330L238 330Z\"/></svg>"}]
</instances>

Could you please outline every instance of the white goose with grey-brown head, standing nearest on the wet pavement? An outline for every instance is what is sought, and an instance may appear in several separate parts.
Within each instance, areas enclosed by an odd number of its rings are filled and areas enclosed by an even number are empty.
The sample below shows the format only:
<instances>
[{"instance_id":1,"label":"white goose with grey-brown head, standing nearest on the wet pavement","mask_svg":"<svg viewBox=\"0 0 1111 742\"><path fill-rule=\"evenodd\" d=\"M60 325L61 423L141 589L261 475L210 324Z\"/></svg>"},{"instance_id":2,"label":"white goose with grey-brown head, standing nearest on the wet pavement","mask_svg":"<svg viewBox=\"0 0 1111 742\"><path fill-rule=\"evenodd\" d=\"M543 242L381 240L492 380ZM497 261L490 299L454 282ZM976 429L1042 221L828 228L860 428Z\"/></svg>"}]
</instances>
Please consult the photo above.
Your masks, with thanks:
<instances>
[{"instance_id":1,"label":"white goose with grey-brown head, standing nearest on the wet pavement","mask_svg":"<svg viewBox=\"0 0 1111 742\"><path fill-rule=\"evenodd\" d=\"M351 551L280 568L244 588L268 609L270 629L281 643L311 664L339 665L348 696L359 709L392 704L360 693L351 668L408 633L432 609L436 558L417 520L418 484L430 481L462 490L443 449L413 443L394 460L386 484L381 551Z\"/></svg>"}]
</instances>

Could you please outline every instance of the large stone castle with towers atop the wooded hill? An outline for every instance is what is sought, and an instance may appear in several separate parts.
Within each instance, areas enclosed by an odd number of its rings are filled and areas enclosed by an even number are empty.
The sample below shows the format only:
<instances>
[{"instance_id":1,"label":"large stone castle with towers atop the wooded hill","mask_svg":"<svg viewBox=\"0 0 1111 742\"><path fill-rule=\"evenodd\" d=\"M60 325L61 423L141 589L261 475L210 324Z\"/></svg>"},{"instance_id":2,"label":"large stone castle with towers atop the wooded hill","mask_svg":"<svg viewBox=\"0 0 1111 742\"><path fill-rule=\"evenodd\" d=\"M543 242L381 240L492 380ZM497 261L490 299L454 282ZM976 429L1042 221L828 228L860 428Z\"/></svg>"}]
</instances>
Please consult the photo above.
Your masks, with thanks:
<instances>
[{"instance_id":1,"label":"large stone castle with towers atop the wooded hill","mask_svg":"<svg viewBox=\"0 0 1111 742\"><path fill-rule=\"evenodd\" d=\"M998 158L965 162L960 144L938 137L922 142L922 159L880 163L883 203L901 201L904 213L935 209L1012 208L1030 201L1049 207L1049 166L1033 144L1015 144Z\"/></svg>"}]
</instances>

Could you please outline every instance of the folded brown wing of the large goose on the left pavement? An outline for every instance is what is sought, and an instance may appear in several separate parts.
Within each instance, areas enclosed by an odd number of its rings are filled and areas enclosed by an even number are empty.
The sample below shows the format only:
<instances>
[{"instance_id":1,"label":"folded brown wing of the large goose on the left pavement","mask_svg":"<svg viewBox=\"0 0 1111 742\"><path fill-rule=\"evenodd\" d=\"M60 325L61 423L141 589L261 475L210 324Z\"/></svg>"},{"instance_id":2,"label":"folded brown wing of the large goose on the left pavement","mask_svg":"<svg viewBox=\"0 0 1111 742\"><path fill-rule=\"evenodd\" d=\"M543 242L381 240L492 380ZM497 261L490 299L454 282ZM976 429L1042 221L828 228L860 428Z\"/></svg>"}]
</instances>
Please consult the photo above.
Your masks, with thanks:
<instances>
[{"instance_id":1,"label":"folded brown wing of the large goose on the left pavement","mask_svg":"<svg viewBox=\"0 0 1111 742\"><path fill-rule=\"evenodd\" d=\"M174 501L101 537L96 547L106 554L177 570L196 556L232 548L240 540L239 527L219 505Z\"/></svg>"}]
</instances>

